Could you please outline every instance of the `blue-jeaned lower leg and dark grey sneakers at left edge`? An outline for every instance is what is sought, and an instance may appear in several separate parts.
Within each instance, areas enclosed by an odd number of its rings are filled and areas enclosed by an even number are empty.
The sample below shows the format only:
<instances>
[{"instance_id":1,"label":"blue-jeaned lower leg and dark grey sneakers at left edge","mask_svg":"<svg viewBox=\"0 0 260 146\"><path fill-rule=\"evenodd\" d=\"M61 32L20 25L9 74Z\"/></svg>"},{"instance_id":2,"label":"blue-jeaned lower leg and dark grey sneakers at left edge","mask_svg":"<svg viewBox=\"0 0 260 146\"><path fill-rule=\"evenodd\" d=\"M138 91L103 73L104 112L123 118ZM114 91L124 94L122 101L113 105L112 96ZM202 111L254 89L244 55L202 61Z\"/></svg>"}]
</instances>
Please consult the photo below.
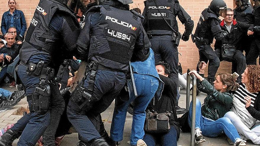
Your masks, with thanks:
<instances>
[{"instance_id":1,"label":"blue-jeaned lower leg and dark grey sneakers at left edge","mask_svg":"<svg viewBox=\"0 0 260 146\"><path fill-rule=\"evenodd\" d=\"M15 106L21 99L25 98L24 91L10 92L0 88L0 111L6 111Z\"/></svg>"}]
</instances>

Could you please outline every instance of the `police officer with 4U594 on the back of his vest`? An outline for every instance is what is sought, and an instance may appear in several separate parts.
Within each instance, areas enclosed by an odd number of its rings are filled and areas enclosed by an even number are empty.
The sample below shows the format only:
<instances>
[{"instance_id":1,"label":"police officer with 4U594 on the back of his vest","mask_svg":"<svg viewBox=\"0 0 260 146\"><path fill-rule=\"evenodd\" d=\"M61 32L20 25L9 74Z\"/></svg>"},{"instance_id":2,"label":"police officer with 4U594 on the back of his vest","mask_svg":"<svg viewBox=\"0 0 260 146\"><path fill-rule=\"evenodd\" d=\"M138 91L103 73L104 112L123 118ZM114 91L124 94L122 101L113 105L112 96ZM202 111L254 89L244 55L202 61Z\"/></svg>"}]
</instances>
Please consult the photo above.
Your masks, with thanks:
<instances>
[{"instance_id":1,"label":"police officer with 4U594 on the back of his vest","mask_svg":"<svg viewBox=\"0 0 260 146\"><path fill-rule=\"evenodd\" d=\"M150 55L150 42L139 18L142 15L129 11L132 2L100 0L87 5L88 19L77 41L76 56L87 60L87 71L67 107L80 146L108 145L97 130L99 120L95 117L100 117L125 86L129 61L144 61Z\"/></svg>"}]
</instances>

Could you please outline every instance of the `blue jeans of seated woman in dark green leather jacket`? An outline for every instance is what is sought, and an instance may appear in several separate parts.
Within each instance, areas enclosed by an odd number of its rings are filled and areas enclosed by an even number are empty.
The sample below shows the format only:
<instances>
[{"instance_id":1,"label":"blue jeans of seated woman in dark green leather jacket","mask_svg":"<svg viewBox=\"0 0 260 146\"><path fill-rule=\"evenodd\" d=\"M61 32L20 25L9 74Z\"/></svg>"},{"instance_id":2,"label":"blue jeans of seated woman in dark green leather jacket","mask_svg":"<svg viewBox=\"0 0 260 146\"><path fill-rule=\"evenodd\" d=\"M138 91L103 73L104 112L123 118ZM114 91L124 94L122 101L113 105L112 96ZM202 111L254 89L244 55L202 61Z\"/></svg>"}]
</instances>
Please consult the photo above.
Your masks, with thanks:
<instances>
[{"instance_id":1,"label":"blue jeans of seated woman in dark green leather jacket","mask_svg":"<svg viewBox=\"0 0 260 146\"><path fill-rule=\"evenodd\" d=\"M190 109L192 109L192 102L190 104ZM192 110L189 110L189 126L191 127L191 114ZM207 137L217 137L222 132L232 140L234 143L237 139L240 138L235 126L232 124L230 119L223 117L217 119L216 121L205 118L201 114L201 103L199 99L196 100L196 119L195 119L195 129L199 128L202 131L202 134Z\"/></svg>"}]
</instances>

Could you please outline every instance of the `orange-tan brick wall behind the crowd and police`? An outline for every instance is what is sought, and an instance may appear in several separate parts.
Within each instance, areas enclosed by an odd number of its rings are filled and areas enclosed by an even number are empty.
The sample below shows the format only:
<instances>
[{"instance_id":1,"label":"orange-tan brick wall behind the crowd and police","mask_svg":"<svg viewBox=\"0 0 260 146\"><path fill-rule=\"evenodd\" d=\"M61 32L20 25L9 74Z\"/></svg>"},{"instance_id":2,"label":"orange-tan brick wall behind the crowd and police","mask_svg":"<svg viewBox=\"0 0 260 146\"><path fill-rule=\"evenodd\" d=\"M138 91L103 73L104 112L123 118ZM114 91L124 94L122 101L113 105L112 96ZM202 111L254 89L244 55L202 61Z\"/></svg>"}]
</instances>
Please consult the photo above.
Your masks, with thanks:
<instances>
[{"instance_id":1,"label":"orange-tan brick wall behind the crowd and police","mask_svg":"<svg viewBox=\"0 0 260 146\"><path fill-rule=\"evenodd\" d=\"M17 1L17 9L22 10L25 14L25 19L27 22L27 27L29 27L33 13L38 4L38 0L16 0ZM139 9L144 9L143 0L133 0L134 3L130 4L130 8L138 7ZM194 30L197 26L200 14L202 10L208 7L211 0L179 0L181 6L188 12L191 16L191 19L194 20ZM233 8L233 0L225 0L228 7ZM5 11L9 9L7 0L0 0L0 16L3 15ZM179 30L181 33L184 32L184 25L178 21ZM212 45L213 47L214 45ZM187 70L187 68L195 69L198 61L199 61L199 52L194 43L192 43L191 38L188 42L183 42L181 40L180 45L178 47L179 53L179 62L183 67L183 72ZM220 63L220 68L218 72L231 72L231 63L222 61ZM207 76L207 71L205 76Z\"/></svg>"}]
</instances>

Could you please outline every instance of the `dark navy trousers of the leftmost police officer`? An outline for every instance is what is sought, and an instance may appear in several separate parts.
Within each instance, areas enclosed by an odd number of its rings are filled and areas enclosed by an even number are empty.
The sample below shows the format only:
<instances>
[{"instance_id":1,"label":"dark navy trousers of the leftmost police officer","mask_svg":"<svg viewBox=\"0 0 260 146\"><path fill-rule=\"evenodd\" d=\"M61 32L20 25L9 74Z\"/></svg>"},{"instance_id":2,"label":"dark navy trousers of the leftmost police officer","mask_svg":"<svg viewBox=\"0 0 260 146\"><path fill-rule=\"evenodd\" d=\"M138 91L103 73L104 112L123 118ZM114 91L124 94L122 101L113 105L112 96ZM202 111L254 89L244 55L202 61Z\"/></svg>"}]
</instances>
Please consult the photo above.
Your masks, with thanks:
<instances>
[{"instance_id":1,"label":"dark navy trousers of the leftmost police officer","mask_svg":"<svg viewBox=\"0 0 260 146\"><path fill-rule=\"evenodd\" d=\"M26 67L19 65L18 73L23 85L26 87L26 95L35 92L36 86L39 85L39 77L29 76L26 73ZM64 111L64 99L56 84L50 84L50 110L48 111L31 111L14 124L11 130L22 133L18 146L34 146L40 136L44 136L45 146L55 146L55 133L62 112ZM32 101L28 101L29 107L32 107Z\"/></svg>"}]
</instances>

